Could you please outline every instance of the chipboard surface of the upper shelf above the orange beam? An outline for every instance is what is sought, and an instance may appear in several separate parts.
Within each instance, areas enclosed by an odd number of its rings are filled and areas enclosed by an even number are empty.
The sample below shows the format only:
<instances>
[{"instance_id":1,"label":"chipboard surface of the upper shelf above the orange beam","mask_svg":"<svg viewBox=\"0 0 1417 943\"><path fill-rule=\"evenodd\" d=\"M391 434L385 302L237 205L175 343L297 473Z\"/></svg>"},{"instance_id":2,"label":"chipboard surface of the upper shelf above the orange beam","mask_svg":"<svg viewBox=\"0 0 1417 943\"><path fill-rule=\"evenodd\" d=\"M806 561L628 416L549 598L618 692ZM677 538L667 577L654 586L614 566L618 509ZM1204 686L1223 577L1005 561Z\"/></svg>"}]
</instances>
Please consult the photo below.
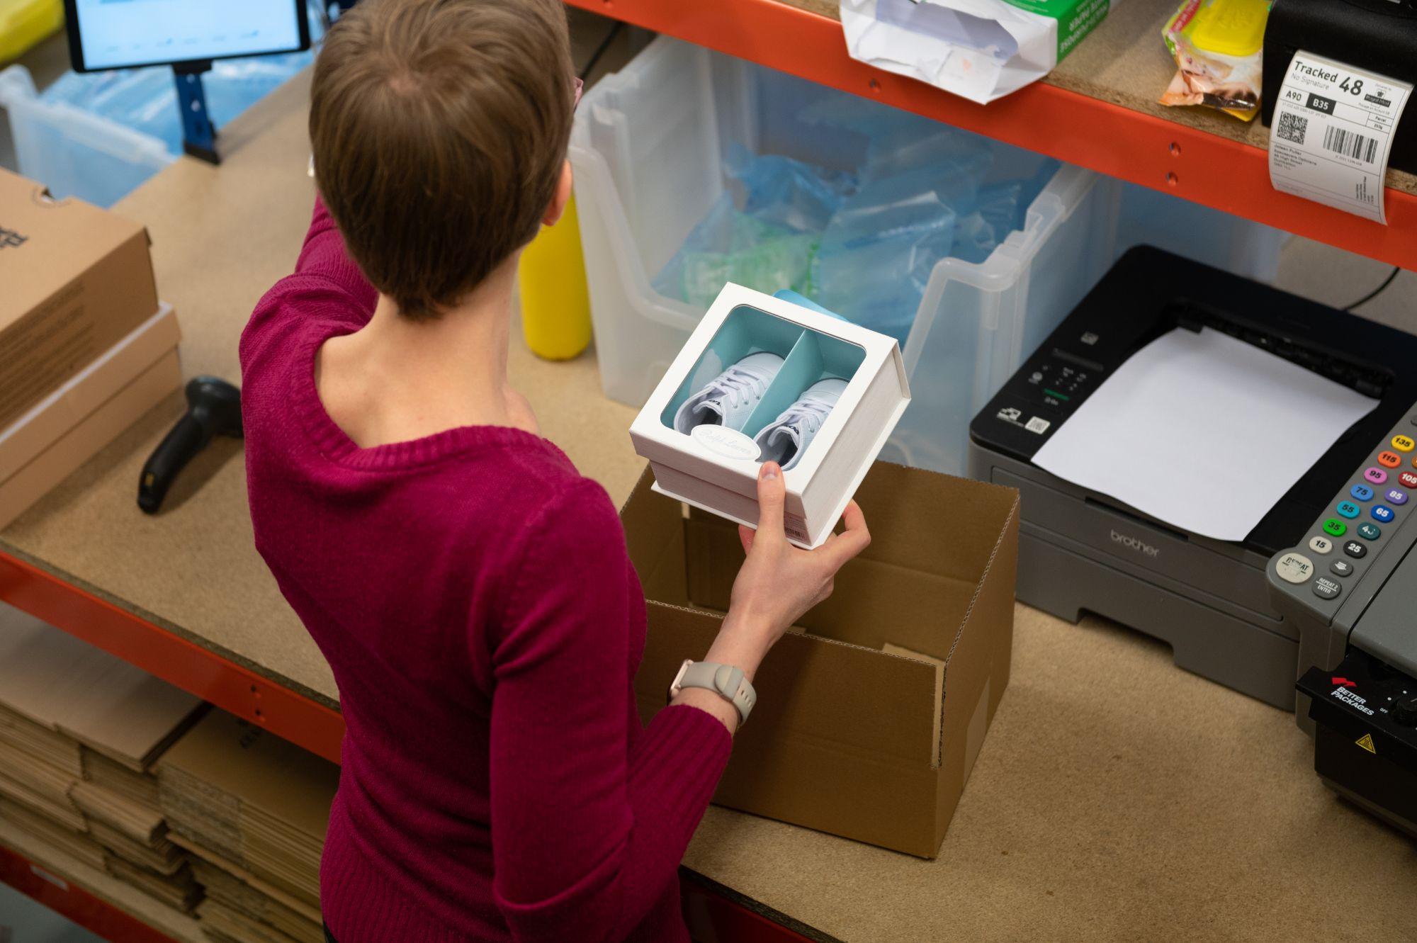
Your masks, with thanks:
<instances>
[{"instance_id":1,"label":"chipboard surface of the upper shelf above the orange beam","mask_svg":"<svg viewBox=\"0 0 1417 943\"><path fill-rule=\"evenodd\" d=\"M781 1L833 20L839 17L836 0ZM1176 74L1176 62L1166 51L1161 30L1179 6L1180 0L1124 0L1114 4L1101 25L1041 81L1268 150L1270 129L1258 119L1241 122L1210 108L1166 108L1156 101ZM1085 135L1087 129L1080 127L1078 133ZM1387 185L1417 193L1417 176L1393 170L1387 174Z\"/></svg>"}]
</instances>

